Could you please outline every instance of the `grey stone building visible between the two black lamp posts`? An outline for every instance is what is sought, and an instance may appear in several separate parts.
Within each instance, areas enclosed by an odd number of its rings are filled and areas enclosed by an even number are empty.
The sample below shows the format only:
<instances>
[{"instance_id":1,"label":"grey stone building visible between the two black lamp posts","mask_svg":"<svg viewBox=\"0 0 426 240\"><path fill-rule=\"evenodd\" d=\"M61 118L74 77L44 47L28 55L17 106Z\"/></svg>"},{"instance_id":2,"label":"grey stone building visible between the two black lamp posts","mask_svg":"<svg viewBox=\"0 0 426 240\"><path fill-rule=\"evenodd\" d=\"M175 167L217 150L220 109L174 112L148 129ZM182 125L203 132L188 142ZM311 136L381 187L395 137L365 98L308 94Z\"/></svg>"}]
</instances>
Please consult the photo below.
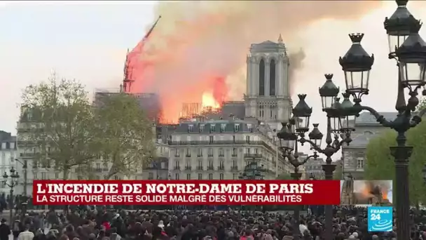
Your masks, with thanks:
<instances>
[{"instance_id":1,"label":"grey stone building visible between the two black lamp posts","mask_svg":"<svg viewBox=\"0 0 426 240\"><path fill-rule=\"evenodd\" d=\"M396 112L381 112L385 119L393 120L397 117ZM362 114L355 120L355 132L352 133L349 146L342 147L343 175L351 174L355 180L364 177L364 166L366 162L366 146L371 138L380 135L389 128L381 126L376 118L369 112Z\"/></svg>"}]
</instances>

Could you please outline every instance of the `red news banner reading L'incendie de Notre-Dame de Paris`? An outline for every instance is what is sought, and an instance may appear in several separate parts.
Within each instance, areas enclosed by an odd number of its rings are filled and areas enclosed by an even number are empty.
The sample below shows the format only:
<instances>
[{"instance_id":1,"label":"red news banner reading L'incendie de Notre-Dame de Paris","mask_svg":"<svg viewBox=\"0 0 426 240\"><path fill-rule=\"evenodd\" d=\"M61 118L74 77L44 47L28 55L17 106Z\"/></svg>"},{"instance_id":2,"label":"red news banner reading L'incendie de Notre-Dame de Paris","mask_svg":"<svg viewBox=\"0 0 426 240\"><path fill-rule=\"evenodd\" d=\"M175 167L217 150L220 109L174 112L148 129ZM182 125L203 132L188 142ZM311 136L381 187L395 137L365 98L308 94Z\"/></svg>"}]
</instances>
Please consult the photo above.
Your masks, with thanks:
<instances>
[{"instance_id":1,"label":"red news banner reading L'incendie de Notre-Dame de Paris","mask_svg":"<svg viewBox=\"0 0 426 240\"><path fill-rule=\"evenodd\" d=\"M335 180L34 180L34 204L338 205Z\"/></svg>"}]
</instances>

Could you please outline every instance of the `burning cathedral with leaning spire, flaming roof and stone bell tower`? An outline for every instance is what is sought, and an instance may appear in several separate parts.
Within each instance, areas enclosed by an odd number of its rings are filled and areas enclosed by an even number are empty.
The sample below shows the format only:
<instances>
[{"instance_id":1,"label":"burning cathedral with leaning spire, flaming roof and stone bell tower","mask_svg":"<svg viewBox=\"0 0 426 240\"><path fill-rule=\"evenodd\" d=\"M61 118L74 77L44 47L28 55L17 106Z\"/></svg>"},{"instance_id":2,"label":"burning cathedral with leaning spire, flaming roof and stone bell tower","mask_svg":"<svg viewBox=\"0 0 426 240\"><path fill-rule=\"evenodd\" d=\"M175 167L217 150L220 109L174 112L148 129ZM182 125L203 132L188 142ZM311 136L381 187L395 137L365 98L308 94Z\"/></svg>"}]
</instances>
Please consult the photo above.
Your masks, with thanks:
<instances>
[{"instance_id":1,"label":"burning cathedral with leaning spire, flaming roof and stone bell tower","mask_svg":"<svg viewBox=\"0 0 426 240\"><path fill-rule=\"evenodd\" d=\"M121 92L137 96L141 107L146 109L151 119L158 124L167 124L162 119L160 98L156 93L135 93L132 85L138 74L142 74L144 66L137 61L141 58L144 44L155 29L161 16L156 20L144 39L126 56ZM242 101L225 101L218 106L203 106L201 102L184 103L179 119L203 117L220 119L233 116L236 119L251 117L280 128L282 121L287 121L291 114L291 98L289 86L289 56L280 35L277 41L263 41L252 44L247 54L246 91ZM111 94L98 91L96 97Z\"/></svg>"}]
</instances>

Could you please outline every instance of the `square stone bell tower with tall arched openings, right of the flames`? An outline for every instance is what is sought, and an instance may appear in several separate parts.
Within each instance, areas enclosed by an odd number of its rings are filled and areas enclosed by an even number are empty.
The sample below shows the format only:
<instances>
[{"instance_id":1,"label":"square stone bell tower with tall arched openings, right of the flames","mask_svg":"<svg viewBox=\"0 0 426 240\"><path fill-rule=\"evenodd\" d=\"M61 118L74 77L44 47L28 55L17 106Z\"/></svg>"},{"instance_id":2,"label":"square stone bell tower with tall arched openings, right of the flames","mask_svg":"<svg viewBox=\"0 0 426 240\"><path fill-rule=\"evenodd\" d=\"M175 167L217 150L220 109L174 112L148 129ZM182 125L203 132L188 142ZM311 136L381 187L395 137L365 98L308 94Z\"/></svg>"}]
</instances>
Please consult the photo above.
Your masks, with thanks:
<instances>
[{"instance_id":1,"label":"square stone bell tower with tall arched openings, right of the flames","mask_svg":"<svg viewBox=\"0 0 426 240\"><path fill-rule=\"evenodd\" d=\"M252 44L247 55L245 115L271 126L288 121L291 114L289 57L282 37L277 43ZM278 128L279 125L274 128Z\"/></svg>"}]
</instances>

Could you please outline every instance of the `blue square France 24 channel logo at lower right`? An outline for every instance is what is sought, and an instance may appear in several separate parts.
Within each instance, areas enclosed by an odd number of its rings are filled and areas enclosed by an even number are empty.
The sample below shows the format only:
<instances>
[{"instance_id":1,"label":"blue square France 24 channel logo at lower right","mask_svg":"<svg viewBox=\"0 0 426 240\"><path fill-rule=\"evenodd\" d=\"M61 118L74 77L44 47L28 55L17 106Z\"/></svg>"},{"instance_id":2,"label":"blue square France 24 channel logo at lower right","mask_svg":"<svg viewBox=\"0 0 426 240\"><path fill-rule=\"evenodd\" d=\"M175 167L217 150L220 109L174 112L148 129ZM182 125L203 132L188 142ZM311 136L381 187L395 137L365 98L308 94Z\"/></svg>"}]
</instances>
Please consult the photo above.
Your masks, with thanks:
<instances>
[{"instance_id":1,"label":"blue square France 24 channel logo at lower right","mask_svg":"<svg viewBox=\"0 0 426 240\"><path fill-rule=\"evenodd\" d=\"M392 232L393 208L391 206L369 206L369 232Z\"/></svg>"}]
</instances>

